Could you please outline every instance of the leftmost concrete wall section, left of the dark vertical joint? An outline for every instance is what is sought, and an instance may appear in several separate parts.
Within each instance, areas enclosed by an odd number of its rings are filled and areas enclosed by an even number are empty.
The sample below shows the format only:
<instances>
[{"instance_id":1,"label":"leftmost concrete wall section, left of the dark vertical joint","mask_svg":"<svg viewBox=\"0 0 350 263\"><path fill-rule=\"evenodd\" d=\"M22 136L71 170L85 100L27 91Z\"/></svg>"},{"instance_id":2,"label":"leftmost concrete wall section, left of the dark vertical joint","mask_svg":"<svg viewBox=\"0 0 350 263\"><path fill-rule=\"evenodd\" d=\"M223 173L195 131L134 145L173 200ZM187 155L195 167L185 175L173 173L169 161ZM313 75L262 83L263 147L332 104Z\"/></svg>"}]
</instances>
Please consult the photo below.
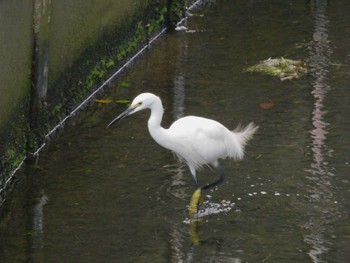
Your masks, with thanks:
<instances>
[{"instance_id":1,"label":"leftmost concrete wall section, left of the dark vertical joint","mask_svg":"<svg viewBox=\"0 0 350 263\"><path fill-rule=\"evenodd\" d=\"M0 1L0 205L8 175L26 153L33 10L31 1Z\"/></svg>"}]
</instances>

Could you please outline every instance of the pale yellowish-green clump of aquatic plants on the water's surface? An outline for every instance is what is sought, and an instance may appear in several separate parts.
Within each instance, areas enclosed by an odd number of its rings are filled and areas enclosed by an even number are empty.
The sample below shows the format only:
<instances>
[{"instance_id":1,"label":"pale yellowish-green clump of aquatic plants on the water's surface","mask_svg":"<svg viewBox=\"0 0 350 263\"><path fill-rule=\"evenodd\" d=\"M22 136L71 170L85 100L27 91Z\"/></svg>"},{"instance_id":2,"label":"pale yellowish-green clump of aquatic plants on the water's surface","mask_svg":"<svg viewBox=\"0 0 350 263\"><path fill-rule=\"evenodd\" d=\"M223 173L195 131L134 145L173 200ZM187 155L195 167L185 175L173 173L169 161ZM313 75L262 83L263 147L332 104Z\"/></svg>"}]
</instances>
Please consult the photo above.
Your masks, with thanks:
<instances>
[{"instance_id":1,"label":"pale yellowish-green clump of aquatic plants on the water's surface","mask_svg":"<svg viewBox=\"0 0 350 263\"><path fill-rule=\"evenodd\" d=\"M308 73L308 67L302 60L269 58L248 67L245 72L259 72L280 80L298 79Z\"/></svg>"}]
</instances>

